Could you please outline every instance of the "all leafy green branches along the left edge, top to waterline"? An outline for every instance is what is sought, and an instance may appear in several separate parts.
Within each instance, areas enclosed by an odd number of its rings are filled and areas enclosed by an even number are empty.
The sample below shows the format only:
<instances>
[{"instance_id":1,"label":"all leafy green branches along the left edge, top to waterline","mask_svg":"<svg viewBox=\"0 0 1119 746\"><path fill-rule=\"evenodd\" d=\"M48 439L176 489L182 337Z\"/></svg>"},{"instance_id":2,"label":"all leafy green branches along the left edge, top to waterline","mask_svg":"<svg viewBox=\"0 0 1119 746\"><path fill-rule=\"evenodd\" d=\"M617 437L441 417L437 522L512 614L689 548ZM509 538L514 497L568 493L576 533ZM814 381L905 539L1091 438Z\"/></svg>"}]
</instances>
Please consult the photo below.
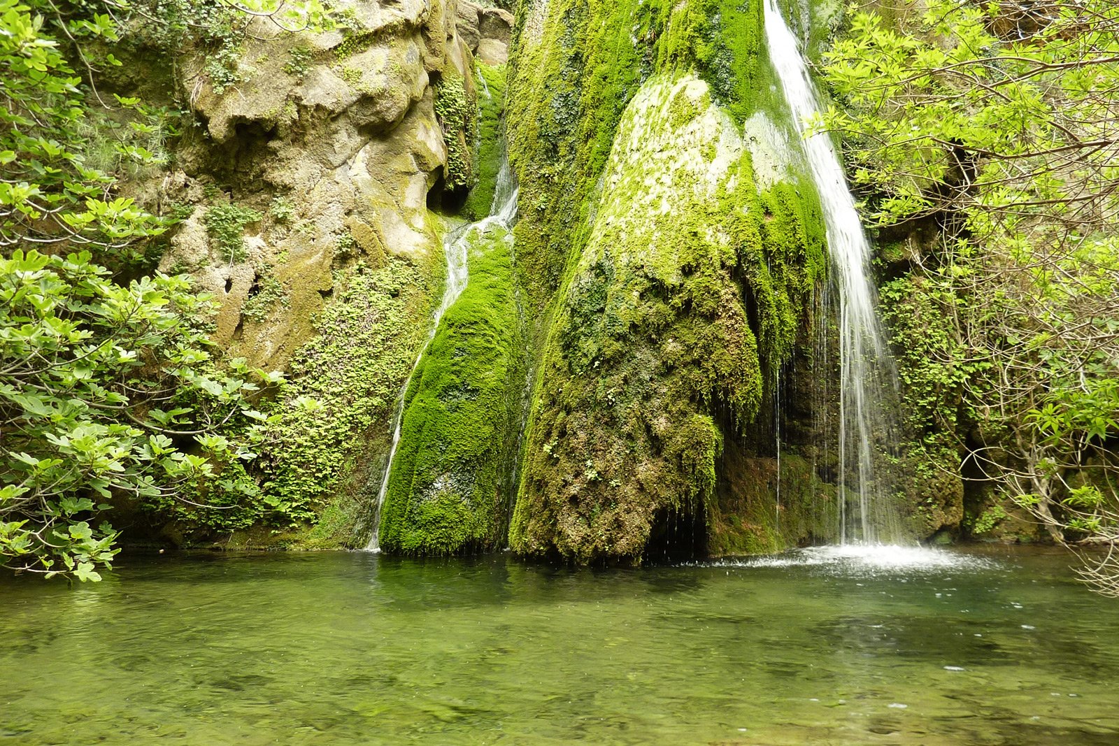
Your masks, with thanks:
<instances>
[{"instance_id":1,"label":"all leafy green branches along the left edge, top to waterline","mask_svg":"<svg viewBox=\"0 0 1119 746\"><path fill-rule=\"evenodd\" d=\"M116 532L102 520L110 504L150 508L217 491L260 492L244 469L267 421L253 403L279 378L242 360L220 362L207 341L213 308L186 278L157 274L125 286L101 266L173 221L115 195L122 171L161 166L159 145L173 113L116 97L111 114L125 116L113 121L130 134L110 139L100 126L105 117L92 116L88 103L109 105L93 87L95 64L120 65L112 54L119 28L134 28L137 19L228 37L232 27L210 11L242 20L264 15L282 25L318 22L325 12L313 1L0 0L0 564L7 567L97 579L96 568L116 551ZM232 228L218 233L235 249L248 216L228 217L224 227L236 224L236 240ZM44 246L49 254L36 251ZM98 262L86 252L63 255L82 247Z\"/></svg>"}]
</instances>

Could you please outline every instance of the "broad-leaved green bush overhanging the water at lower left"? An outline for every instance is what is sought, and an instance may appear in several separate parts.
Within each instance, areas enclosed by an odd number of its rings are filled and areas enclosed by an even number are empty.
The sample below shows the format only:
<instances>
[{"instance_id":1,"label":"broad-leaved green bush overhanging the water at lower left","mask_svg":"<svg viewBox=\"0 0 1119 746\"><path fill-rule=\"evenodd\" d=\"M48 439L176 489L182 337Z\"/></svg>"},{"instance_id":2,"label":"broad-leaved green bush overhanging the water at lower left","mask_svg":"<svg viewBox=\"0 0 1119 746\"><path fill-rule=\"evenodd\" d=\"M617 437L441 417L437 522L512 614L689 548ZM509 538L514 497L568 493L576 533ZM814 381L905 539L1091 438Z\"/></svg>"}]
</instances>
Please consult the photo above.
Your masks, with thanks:
<instances>
[{"instance_id":1,"label":"broad-leaved green bush overhanging the water at lower left","mask_svg":"<svg viewBox=\"0 0 1119 746\"><path fill-rule=\"evenodd\" d=\"M90 258L0 259L0 559L81 579L116 553L113 501L175 500L253 457L219 431L263 419L253 379L275 380L217 367L186 278L122 287Z\"/></svg>"}]
</instances>

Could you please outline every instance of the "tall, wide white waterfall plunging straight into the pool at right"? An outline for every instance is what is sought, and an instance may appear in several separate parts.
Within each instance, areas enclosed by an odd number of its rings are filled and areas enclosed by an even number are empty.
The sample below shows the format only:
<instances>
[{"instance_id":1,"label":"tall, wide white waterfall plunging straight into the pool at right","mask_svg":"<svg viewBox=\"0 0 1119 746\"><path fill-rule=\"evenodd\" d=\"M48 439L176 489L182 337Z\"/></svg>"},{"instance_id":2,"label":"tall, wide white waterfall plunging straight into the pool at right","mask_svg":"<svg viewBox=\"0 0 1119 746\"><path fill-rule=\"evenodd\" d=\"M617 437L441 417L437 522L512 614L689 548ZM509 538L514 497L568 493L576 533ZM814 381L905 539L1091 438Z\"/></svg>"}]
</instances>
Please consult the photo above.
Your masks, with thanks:
<instances>
[{"instance_id":1,"label":"tall, wide white waterfall plunging straight into the pool at right","mask_svg":"<svg viewBox=\"0 0 1119 746\"><path fill-rule=\"evenodd\" d=\"M881 494L874 470L875 435L885 438L890 431L890 418L883 407L886 390L883 379L892 380L893 367L875 312L871 245L830 139L826 133L808 131L809 121L819 111L817 95L777 0L765 0L765 37L820 195L831 282L838 298L839 539L844 544L896 540L897 520L892 514L888 495ZM857 492L857 514L847 514L848 491Z\"/></svg>"}]
</instances>

